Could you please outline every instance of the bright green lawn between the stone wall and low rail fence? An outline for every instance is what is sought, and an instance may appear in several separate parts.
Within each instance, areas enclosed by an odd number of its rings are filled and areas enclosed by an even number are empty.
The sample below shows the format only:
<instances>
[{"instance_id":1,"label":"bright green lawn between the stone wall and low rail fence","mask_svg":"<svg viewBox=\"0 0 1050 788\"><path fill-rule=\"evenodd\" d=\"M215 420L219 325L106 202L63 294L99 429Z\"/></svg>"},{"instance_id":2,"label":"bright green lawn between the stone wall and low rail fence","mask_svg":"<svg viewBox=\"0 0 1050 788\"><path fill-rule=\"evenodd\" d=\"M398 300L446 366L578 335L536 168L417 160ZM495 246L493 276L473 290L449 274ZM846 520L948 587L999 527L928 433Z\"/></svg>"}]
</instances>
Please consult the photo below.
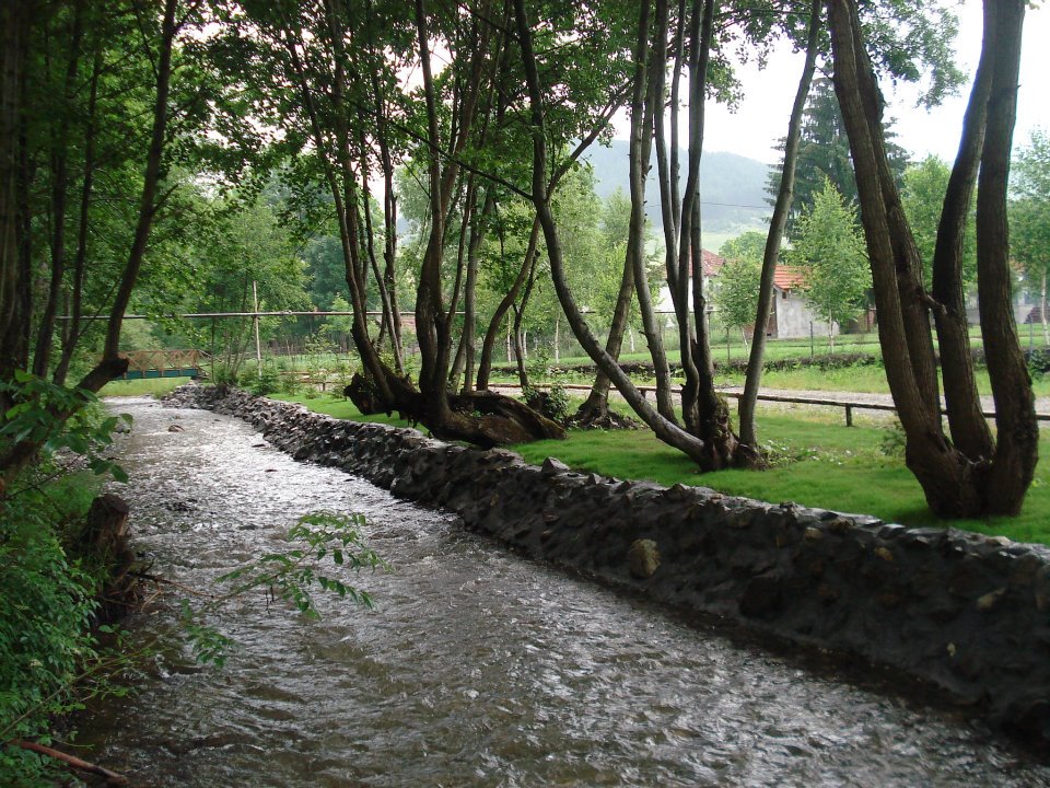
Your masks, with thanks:
<instances>
[{"instance_id":1,"label":"bright green lawn between the stone wall and low rail fence","mask_svg":"<svg viewBox=\"0 0 1050 788\"><path fill-rule=\"evenodd\" d=\"M280 398L337 418L407 426L386 416L361 416L346 399ZM898 433L885 424L866 421L859 416L856 426L844 427L839 413L768 410L760 413L759 428L774 459L773 467L767 471L700 474L684 454L661 443L648 430L573 431L563 441L512 448L532 463L555 456L573 468L603 476L648 479L662 485L680 482L774 503L795 501L874 514L907 525L954 525L1002 534L1019 542L1050 544L1050 472L1042 466L1036 471L1036 480L1019 517L946 522L930 514L919 484L905 467L899 452L892 451L894 443L899 445ZM889 453L884 449L886 444L890 444ZM1040 440L1040 453L1050 454L1050 440Z\"/></svg>"}]
</instances>

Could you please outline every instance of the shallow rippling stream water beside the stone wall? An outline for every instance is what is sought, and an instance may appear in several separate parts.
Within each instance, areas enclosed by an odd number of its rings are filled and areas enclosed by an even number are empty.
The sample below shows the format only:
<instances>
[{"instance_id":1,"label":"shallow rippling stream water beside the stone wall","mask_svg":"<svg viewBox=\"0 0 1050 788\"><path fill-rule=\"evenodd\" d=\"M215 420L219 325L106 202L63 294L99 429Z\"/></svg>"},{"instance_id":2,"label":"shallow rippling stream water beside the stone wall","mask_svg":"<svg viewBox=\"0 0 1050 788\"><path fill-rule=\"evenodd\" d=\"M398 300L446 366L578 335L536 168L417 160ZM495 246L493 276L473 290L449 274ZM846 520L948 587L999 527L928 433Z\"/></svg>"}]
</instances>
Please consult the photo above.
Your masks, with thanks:
<instances>
[{"instance_id":1,"label":"shallow rippling stream water beside the stone wall","mask_svg":"<svg viewBox=\"0 0 1050 788\"><path fill-rule=\"evenodd\" d=\"M310 511L361 512L393 571L374 612L305 619L249 594L223 669L152 658L81 723L136 786L1050 786L1050 767L908 693L688 626L464 532L455 518L296 463L240 420L118 399L138 549L213 579L287 548ZM173 425L182 431L170 431ZM143 642L160 602L126 622Z\"/></svg>"}]
</instances>

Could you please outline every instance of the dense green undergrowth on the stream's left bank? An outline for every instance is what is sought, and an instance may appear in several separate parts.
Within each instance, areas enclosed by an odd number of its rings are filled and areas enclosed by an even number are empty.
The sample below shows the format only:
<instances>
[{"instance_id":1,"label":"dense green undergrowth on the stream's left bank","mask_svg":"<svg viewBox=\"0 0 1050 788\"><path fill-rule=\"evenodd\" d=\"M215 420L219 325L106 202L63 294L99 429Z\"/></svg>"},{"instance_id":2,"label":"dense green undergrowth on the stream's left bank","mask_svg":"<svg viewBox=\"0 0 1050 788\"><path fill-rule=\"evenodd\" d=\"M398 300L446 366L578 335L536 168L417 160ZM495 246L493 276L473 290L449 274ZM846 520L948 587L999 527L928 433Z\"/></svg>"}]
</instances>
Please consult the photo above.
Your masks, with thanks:
<instances>
[{"instance_id":1,"label":"dense green undergrowth on the stream's left bank","mask_svg":"<svg viewBox=\"0 0 1050 788\"><path fill-rule=\"evenodd\" d=\"M23 371L0 389L10 404L0 414L0 450L40 447L37 463L0 497L0 784L50 785L45 760L8 743L47 744L57 717L119 692L100 675L110 659L91 631L104 572L66 545L75 543L102 476L127 478L106 452L131 417L108 416L91 392Z\"/></svg>"}]
</instances>

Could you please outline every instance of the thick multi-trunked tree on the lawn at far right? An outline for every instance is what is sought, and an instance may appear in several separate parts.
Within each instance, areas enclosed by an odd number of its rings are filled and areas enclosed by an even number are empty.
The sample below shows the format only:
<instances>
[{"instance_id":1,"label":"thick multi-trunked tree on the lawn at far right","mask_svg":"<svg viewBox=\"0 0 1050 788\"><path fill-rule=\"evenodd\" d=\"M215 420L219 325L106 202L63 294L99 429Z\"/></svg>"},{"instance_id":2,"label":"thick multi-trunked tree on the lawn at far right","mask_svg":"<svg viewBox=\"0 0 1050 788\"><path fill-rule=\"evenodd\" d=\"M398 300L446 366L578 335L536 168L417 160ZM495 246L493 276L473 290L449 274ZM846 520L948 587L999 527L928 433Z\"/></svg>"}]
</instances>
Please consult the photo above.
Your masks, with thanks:
<instances>
[{"instance_id":1,"label":"thick multi-trunked tree on the lawn at far right","mask_svg":"<svg viewBox=\"0 0 1050 788\"><path fill-rule=\"evenodd\" d=\"M1011 306L1005 210L1025 3L984 3L981 59L945 194L930 293L890 170L883 101L858 4L828 0L827 5L836 94L850 138L886 375L907 436L906 461L942 517L1016 514L1038 453L1035 398ZM981 329L999 428L994 440L972 382L962 301L962 245L975 186ZM931 308L952 439L941 419Z\"/></svg>"}]
</instances>

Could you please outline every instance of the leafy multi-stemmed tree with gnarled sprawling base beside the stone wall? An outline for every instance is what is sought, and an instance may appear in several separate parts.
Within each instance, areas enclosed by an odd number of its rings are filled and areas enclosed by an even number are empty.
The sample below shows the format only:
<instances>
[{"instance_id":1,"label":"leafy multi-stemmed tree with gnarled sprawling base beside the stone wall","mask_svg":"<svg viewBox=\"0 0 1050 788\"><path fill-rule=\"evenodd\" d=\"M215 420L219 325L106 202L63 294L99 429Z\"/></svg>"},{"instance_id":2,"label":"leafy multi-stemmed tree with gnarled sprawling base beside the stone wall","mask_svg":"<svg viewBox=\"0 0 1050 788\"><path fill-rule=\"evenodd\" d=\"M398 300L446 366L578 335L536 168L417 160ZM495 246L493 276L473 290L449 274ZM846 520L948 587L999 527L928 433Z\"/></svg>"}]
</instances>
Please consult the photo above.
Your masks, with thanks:
<instances>
[{"instance_id":1,"label":"leafy multi-stemmed tree with gnarled sprawling base beside the stone wall","mask_svg":"<svg viewBox=\"0 0 1050 788\"><path fill-rule=\"evenodd\" d=\"M237 56L231 65L248 63L240 78L253 86L259 107L279 107L268 117L284 131L285 150L304 181L312 175L327 187L354 313L352 337L364 369L348 389L354 401L366 410L399 410L439 437L481 445L562 434L557 425L509 397L448 391L456 312L465 282L474 280L467 271L470 232L479 227L475 213L483 213L487 204L476 161L487 154L499 159L486 148L486 139L497 111L495 84L510 79L501 70L510 44L501 5L479 0L469 8L431 8L419 0L408 7L365 2L362 8L318 0L245 3L244 11L231 3L225 13L236 22L236 37L226 36ZM440 73L432 57L438 48L447 56ZM397 76L402 67L418 69L421 84L404 84ZM396 84L409 92L395 101ZM398 130L400 155L413 159L424 184L423 245L419 268L412 271L421 358L418 386L385 363L368 318L371 288L398 279L392 269L389 200L384 209L385 246L374 240L370 218L369 173L382 172L387 189L394 178L395 150L384 148L394 138L378 139L380 129ZM490 169L498 170L498 163ZM385 270L378 262L381 246ZM383 290L380 287L381 335L396 336L395 299L389 287L385 294Z\"/></svg>"}]
</instances>

